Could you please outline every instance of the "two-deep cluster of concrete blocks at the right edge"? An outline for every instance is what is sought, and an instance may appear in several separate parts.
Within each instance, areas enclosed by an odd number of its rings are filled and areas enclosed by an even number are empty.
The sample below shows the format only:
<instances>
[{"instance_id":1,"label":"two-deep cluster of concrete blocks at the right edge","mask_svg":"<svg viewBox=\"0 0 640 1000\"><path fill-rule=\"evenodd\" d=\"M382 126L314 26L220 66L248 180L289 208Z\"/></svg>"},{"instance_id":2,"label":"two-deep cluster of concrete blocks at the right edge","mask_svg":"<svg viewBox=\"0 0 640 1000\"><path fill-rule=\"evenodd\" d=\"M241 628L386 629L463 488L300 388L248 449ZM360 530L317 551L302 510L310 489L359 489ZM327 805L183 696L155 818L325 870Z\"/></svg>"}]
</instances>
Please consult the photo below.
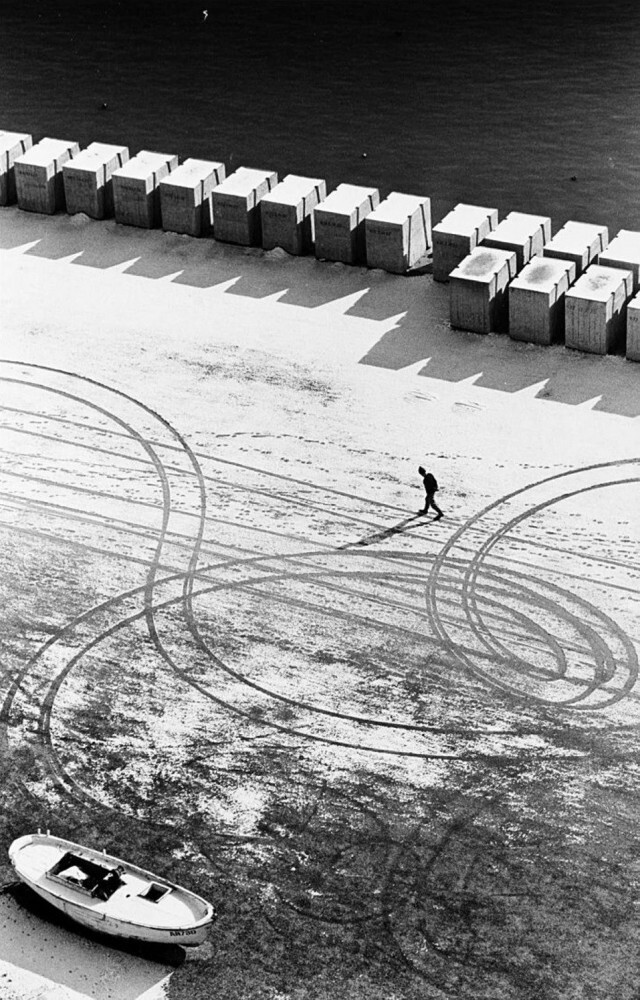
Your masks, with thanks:
<instances>
[{"instance_id":1,"label":"two-deep cluster of concrete blocks at the right edge","mask_svg":"<svg viewBox=\"0 0 640 1000\"><path fill-rule=\"evenodd\" d=\"M567 222L553 239L550 229L520 213L490 229L448 276L451 325L640 361L640 233L623 229L609 244L605 226Z\"/></svg>"}]
</instances>

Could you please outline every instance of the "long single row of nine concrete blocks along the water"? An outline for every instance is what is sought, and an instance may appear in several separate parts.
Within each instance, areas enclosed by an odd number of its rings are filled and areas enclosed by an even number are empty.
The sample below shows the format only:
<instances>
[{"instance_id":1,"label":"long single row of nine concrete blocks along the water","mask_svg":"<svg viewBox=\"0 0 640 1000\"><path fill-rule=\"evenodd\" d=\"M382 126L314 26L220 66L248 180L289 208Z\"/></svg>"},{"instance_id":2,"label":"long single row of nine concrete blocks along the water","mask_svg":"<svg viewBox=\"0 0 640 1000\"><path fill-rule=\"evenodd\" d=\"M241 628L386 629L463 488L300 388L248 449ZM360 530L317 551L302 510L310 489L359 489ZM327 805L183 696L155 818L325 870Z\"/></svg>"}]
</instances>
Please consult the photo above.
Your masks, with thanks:
<instances>
[{"instance_id":1,"label":"long single row of nine concrete blocks along the water","mask_svg":"<svg viewBox=\"0 0 640 1000\"><path fill-rule=\"evenodd\" d=\"M431 247L429 198L225 166L126 146L0 132L0 205L102 219L404 273Z\"/></svg>"}]
</instances>

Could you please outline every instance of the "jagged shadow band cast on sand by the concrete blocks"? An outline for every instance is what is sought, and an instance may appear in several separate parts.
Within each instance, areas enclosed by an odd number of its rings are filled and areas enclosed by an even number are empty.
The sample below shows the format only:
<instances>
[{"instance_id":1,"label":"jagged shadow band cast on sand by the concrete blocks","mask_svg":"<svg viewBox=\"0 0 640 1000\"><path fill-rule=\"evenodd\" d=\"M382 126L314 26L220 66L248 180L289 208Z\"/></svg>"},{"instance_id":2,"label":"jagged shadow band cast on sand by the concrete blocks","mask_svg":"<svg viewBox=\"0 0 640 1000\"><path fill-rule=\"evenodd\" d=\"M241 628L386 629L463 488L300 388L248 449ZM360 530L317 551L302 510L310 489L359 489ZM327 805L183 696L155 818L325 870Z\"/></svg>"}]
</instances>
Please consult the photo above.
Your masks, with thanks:
<instances>
[{"instance_id":1,"label":"jagged shadow band cast on sand by the concrete blocks","mask_svg":"<svg viewBox=\"0 0 640 1000\"><path fill-rule=\"evenodd\" d=\"M36 242L37 241L37 242ZM234 281L225 294L278 296L283 304L315 309L336 303L346 315L385 322L385 332L361 364L399 371L425 362L417 374L448 382L473 380L500 392L524 392L554 402L585 405L624 416L640 415L638 364L562 345L540 347L507 334L473 334L449 324L449 289L431 275L398 276L313 257L292 257L194 239L162 230L95 221L84 215L43 216L15 206L0 209L0 249L35 245L29 256L74 266L124 265L138 277L171 277L176 284L212 288ZM425 268L422 269L423 271ZM428 267L426 268L428 270ZM389 329L389 320L395 325Z\"/></svg>"}]
</instances>

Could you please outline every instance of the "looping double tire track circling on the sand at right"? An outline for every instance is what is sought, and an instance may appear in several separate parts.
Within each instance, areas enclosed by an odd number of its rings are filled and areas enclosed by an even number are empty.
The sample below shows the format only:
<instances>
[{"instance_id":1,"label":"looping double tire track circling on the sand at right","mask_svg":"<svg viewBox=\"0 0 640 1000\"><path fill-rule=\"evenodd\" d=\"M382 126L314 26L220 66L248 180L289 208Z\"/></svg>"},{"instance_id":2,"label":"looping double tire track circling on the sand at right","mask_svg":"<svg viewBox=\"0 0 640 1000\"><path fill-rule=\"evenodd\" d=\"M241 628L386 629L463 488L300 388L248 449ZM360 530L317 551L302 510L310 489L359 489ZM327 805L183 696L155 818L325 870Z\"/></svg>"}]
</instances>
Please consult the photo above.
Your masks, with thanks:
<instances>
[{"instance_id":1,"label":"looping double tire track circling on the sand at right","mask_svg":"<svg viewBox=\"0 0 640 1000\"><path fill-rule=\"evenodd\" d=\"M592 490L635 484L640 481L639 477L598 481L600 474L620 465L633 465L637 462L637 459L606 462L548 477L490 504L450 538L434 560L427 582L426 604L438 636L446 644L451 655L466 669L496 688L548 705L602 709L615 704L631 692L638 677L637 652L626 632L610 616L594 604L555 584L534 581L530 575L512 569L508 572L501 569L498 572L497 567L485 568L485 564L498 543L508 540L514 528L535 514ZM580 483L580 478L587 480L592 478L596 481ZM482 520L488 520L487 515L496 511L499 513L502 507L509 510L516 498L526 503L528 495L535 496L536 490L544 490L550 484L555 486L559 481L564 484L571 479L578 479L575 488L554 493L551 497L545 497L542 501L527 506L524 511L510 517L499 528L493 530L479 547L472 547L468 554L461 555L461 550L466 544L465 536L471 529L477 530L478 527L482 527ZM462 573L458 569L460 565L463 567ZM466 628L480 646L496 657L494 669L487 670L478 663L477 655L469 654L459 642L453 640L439 607L439 591L442 588L443 578L446 579L448 588L452 582L456 586L464 614L460 629ZM552 639L549 626L541 629L532 614L535 612L540 618L546 617L547 620L555 621L560 631L569 630L579 636L589 651L590 676L582 677L574 670L573 675L568 677L566 656L560 643L555 639L549 642L549 653L555 659L556 667L555 671L549 673L546 684L540 679L539 668L524 661L520 655L511 654L512 667L503 674L495 669L509 657L510 650L495 635L482 613L481 606L485 603L482 583L486 579L496 582L503 596L508 598L508 601L505 601L505 608L508 608L509 613L516 616L520 625L526 626L528 631L537 631L539 634L547 631ZM514 610L512 607L514 603L524 605L527 608L526 614ZM535 683L533 683L534 678L536 678ZM612 682L615 682L615 686ZM577 693L576 688L579 689Z\"/></svg>"}]
</instances>

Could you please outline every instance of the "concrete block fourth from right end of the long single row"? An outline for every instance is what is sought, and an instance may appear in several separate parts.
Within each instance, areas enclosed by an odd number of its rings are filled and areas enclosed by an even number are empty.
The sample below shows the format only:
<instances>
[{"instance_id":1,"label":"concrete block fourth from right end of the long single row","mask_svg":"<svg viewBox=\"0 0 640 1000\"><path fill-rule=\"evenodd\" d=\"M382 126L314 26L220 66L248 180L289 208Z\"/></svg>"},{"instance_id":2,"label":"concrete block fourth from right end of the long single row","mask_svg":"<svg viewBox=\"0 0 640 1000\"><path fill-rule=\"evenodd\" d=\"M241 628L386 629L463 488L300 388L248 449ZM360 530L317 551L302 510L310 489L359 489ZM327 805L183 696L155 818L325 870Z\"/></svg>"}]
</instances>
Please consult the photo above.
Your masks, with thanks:
<instances>
[{"instance_id":1,"label":"concrete block fourth from right end of the long single row","mask_svg":"<svg viewBox=\"0 0 640 1000\"><path fill-rule=\"evenodd\" d=\"M260 246L260 202L278 183L272 170L238 167L213 191L213 235L224 243Z\"/></svg>"}]
</instances>

